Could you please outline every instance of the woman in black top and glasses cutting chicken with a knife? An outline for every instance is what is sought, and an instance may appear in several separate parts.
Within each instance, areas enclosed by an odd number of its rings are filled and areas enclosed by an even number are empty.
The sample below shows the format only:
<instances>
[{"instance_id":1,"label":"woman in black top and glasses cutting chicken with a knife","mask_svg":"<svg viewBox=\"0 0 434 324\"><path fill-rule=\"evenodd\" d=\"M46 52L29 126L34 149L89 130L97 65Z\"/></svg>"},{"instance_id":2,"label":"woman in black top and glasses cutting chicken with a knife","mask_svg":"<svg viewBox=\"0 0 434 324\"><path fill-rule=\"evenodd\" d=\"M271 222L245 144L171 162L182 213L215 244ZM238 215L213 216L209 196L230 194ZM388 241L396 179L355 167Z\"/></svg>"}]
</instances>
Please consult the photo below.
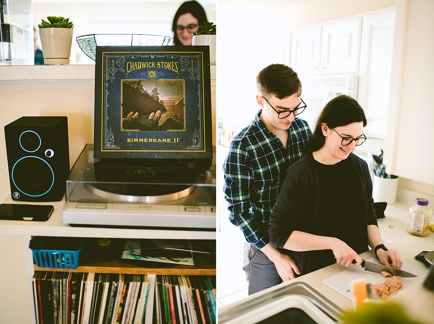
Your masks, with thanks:
<instances>
[{"instance_id":1,"label":"woman in black top and glasses cutting chicken with a knife","mask_svg":"<svg viewBox=\"0 0 434 324\"><path fill-rule=\"evenodd\" d=\"M304 156L287 171L268 232L271 244L294 259L301 275L335 262L350 267L355 260L359 266L358 254L368 245L383 264L402 266L398 252L381 242L368 165L352 154L366 140L366 124L355 99L333 98L322 109Z\"/></svg>"}]
</instances>

